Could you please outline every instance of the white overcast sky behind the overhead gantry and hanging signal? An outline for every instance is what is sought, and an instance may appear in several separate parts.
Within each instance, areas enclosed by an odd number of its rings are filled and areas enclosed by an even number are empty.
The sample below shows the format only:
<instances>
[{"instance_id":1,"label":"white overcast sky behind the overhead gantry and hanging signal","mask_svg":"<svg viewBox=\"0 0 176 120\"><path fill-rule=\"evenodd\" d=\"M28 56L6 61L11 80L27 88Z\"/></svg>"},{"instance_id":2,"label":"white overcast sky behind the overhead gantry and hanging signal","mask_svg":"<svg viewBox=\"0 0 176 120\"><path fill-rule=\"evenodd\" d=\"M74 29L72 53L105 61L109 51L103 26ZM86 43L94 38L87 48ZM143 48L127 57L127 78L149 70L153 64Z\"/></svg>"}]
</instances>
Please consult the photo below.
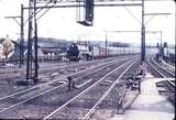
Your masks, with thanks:
<instances>
[{"instance_id":1,"label":"white overcast sky behind the overhead gantry and hanging signal","mask_svg":"<svg viewBox=\"0 0 176 120\"><path fill-rule=\"evenodd\" d=\"M19 37L20 26L13 21L4 19L7 15L20 15L20 4L28 7L29 0L0 0L0 37L7 34L13 40ZM105 41L106 31L109 41L125 41L140 43L141 33L110 32L110 31L141 31L141 7L95 8L94 26L82 26L76 23L76 8L52 9L38 20L38 36L66 40L100 40ZM28 11L25 13L25 20ZM146 43L162 40L175 44L175 2L173 0L145 1L145 13L172 13L157 15L146 24ZM132 17L133 14L133 17ZM135 18L134 18L135 17ZM151 17L145 17L145 22ZM24 21L25 21L24 20ZM25 37L28 36L25 25Z\"/></svg>"}]
</instances>

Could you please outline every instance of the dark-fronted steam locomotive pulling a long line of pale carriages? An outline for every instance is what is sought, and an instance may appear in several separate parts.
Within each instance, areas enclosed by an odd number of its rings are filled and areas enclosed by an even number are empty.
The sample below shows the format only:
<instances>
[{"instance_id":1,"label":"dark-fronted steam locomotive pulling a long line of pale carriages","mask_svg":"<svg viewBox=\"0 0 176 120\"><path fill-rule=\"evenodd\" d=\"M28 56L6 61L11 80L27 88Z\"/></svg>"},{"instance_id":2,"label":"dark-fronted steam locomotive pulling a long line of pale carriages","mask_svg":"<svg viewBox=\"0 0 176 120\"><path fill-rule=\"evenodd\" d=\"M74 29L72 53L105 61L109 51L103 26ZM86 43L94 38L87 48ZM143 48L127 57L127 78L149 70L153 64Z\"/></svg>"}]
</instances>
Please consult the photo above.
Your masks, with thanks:
<instances>
[{"instance_id":1,"label":"dark-fronted steam locomotive pulling a long line of pale carriages","mask_svg":"<svg viewBox=\"0 0 176 120\"><path fill-rule=\"evenodd\" d=\"M112 47L112 46L89 46L73 43L67 51L67 59L78 62L79 59L91 61L107 56L118 56L140 53L140 47Z\"/></svg>"}]
</instances>

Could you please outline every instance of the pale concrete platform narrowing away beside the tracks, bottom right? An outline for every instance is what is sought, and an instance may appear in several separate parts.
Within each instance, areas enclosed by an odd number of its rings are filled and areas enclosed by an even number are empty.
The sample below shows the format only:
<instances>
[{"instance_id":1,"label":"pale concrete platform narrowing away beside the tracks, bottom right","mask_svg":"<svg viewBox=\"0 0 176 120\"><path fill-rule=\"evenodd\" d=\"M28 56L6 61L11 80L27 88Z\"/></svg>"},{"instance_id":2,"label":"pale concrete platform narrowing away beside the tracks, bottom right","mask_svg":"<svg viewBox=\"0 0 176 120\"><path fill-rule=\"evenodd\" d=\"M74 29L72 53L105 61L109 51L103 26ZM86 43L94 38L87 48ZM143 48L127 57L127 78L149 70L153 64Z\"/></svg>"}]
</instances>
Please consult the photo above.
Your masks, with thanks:
<instances>
[{"instance_id":1,"label":"pale concrete platform narrowing away beside the tracks, bottom right","mask_svg":"<svg viewBox=\"0 0 176 120\"><path fill-rule=\"evenodd\" d=\"M109 120L175 120L175 108L166 97L158 94L156 81L160 79L146 74L141 83L141 95L129 110Z\"/></svg>"}]
</instances>

